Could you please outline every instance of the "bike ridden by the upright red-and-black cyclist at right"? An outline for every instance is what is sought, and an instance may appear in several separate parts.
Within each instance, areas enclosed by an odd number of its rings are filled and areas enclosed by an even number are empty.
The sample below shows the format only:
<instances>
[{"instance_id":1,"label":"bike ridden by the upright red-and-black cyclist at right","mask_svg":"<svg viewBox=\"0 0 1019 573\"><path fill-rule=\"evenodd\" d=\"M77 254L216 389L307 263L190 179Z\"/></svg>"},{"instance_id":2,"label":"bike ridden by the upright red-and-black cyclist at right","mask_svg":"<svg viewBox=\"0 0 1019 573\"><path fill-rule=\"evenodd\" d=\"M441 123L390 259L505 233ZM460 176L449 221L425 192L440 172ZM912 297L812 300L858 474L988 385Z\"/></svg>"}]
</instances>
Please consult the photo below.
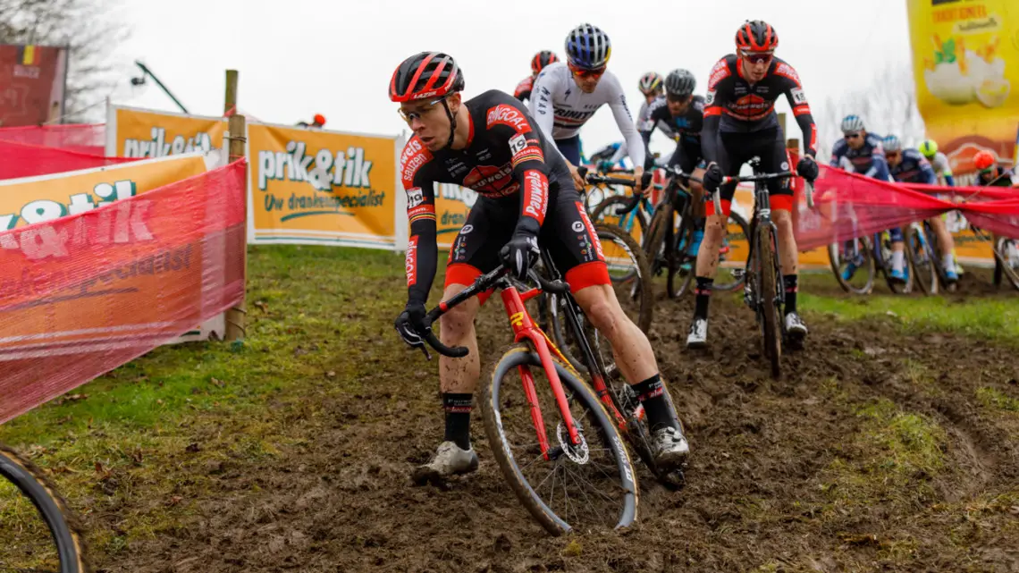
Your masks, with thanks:
<instances>
[{"instance_id":1,"label":"bike ridden by the upright red-and-black cyclist at right","mask_svg":"<svg viewBox=\"0 0 1019 573\"><path fill-rule=\"evenodd\" d=\"M759 157L754 157L747 163L753 168L753 175L722 177L719 188L729 184L754 184L754 213L750 218L750 232L747 236L750 253L747 256L743 299L750 310L757 315L764 355L771 363L771 376L779 378L782 375L782 347L786 340L786 323L783 320L786 290L781 280L779 229L771 220L771 196L767 181L794 177L796 173L792 171L761 173ZM806 184L807 206L813 209L813 185L810 181ZM715 213L723 212L717 189L711 194L711 201L714 203Z\"/></svg>"}]
</instances>

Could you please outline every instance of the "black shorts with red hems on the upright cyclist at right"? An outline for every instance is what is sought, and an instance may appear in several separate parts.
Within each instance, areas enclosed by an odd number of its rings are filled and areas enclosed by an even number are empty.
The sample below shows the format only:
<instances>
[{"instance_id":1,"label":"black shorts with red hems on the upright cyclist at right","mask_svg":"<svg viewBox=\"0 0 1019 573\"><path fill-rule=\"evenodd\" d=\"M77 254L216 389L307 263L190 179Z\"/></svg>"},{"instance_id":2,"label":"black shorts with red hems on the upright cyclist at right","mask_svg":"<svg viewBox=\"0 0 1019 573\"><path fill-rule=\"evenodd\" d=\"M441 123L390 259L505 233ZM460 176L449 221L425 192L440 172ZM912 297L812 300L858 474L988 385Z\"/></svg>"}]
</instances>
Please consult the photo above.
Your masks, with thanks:
<instances>
[{"instance_id":1,"label":"black shorts with red hems on the upright cyclist at right","mask_svg":"<svg viewBox=\"0 0 1019 573\"><path fill-rule=\"evenodd\" d=\"M754 157L761 158L761 171L775 173L789 171L789 153L786 151L786 138L781 128L763 129L746 134L721 133L721 145L718 146L718 168L721 174L733 176L740 174L743 164ZM768 193L771 196L771 210L790 211L793 207L793 188L789 178L771 179L767 181ZM728 216L736 195L736 185L723 185L719 188L721 210ZM707 215L714 214L714 203L709 194L704 194Z\"/></svg>"}]
</instances>

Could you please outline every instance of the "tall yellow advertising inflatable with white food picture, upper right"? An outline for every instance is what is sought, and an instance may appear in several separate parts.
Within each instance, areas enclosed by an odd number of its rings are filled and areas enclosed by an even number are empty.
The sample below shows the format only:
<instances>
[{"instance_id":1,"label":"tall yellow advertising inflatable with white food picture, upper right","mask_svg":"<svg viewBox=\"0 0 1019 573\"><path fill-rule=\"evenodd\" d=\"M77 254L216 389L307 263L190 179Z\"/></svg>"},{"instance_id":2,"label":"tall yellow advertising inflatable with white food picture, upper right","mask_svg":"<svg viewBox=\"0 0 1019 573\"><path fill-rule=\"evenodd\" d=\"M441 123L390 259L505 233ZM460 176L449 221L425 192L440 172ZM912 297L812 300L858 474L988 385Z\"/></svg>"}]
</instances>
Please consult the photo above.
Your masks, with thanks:
<instances>
[{"instance_id":1,"label":"tall yellow advertising inflatable with white food picture, upper right","mask_svg":"<svg viewBox=\"0 0 1019 573\"><path fill-rule=\"evenodd\" d=\"M907 0L916 100L959 173L973 155L1015 153L1019 123L1019 2Z\"/></svg>"}]
</instances>

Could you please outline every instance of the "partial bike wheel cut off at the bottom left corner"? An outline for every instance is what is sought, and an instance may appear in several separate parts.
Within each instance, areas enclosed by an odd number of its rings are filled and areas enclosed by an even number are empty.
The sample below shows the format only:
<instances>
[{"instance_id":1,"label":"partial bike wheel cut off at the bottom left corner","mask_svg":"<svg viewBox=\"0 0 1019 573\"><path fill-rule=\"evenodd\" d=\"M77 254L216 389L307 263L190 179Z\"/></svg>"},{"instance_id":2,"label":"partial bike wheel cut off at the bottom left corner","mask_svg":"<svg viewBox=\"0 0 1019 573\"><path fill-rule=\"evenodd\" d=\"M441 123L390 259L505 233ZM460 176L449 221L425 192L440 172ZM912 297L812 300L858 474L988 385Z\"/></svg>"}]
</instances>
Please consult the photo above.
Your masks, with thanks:
<instances>
[{"instance_id":1,"label":"partial bike wheel cut off at the bottom left corner","mask_svg":"<svg viewBox=\"0 0 1019 573\"><path fill-rule=\"evenodd\" d=\"M43 471L0 445L0 572L89 571L77 520Z\"/></svg>"}]
</instances>

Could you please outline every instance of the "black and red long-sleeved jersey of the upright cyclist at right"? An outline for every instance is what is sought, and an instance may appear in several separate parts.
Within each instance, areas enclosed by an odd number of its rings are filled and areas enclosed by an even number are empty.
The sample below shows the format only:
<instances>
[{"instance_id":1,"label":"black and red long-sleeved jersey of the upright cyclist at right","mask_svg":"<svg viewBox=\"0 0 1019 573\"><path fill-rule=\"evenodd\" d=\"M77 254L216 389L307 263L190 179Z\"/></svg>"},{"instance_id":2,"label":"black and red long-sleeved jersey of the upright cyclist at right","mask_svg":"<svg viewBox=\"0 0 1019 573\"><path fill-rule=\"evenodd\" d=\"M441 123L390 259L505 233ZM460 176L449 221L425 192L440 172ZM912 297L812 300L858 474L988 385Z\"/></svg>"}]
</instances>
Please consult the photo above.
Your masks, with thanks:
<instances>
[{"instance_id":1,"label":"black and red long-sleeved jersey of the upright cyclist at right","mask_svg":"<svg viewBox=\"0 0 1019 573\"><path fill-rule=\"evenodd\" d=\"M803 129L807 155L816 155L817 127L810 115L807 96L803 93L799 74L781 58L772 58L764 77L750 84L743 76L740 58L730 54L711 68L707 90L701 133L704 159L707 161L718 161L722 133L749 134L777 128L774 102L782 94L786 95L796 122Z\"/></svg>"}]
</instances>

